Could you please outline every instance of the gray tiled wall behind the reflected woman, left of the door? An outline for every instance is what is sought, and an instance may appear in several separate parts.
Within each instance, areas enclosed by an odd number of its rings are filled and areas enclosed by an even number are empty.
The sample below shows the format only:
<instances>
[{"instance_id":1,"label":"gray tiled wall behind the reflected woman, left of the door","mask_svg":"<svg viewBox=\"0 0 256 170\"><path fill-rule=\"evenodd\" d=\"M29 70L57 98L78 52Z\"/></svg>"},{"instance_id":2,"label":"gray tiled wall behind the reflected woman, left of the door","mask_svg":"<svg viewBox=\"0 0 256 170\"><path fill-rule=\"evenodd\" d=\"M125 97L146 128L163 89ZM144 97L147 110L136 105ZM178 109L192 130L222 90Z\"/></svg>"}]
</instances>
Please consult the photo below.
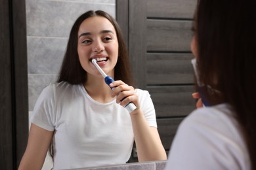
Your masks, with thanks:
<instances>
[{"instance_id":1,"label":"gray tiled wall behind the reflected woman, left of the door","mask_svg":"<svg viewBox=\"0 0 256 170\"><path fill-rule=\"evenodd\" d=\"M104 10L116 18L116 0L26 0L29 114L43 88L56 82L70 29L87 10ZM51 169L51 163L44 169Z\"/></svg>"}]
</instances>

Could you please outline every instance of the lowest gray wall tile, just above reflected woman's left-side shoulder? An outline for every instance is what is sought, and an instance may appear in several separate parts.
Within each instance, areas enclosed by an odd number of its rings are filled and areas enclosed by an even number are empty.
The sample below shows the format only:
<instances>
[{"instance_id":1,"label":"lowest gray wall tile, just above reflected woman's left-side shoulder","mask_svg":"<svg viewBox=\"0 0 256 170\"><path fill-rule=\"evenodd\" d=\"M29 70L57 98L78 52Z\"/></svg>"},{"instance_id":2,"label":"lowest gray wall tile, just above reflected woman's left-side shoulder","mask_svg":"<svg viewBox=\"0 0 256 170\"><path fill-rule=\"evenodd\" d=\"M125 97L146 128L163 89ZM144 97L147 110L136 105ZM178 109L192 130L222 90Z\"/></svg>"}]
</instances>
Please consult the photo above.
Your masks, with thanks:
<instances>
[{"instance_id":1,"label":"lowest gray wall tile, just above reflected woman's left-side shoulder","mask_svg":"<svg viewBox=\"0 0 256 170\"><path fill-rule=\"evenodd\" d=\"M56 82L58 75L28 75L28 102L29 111L33 110L35 101L39 97L43 88Z\"/></svg>"}]
</instances>

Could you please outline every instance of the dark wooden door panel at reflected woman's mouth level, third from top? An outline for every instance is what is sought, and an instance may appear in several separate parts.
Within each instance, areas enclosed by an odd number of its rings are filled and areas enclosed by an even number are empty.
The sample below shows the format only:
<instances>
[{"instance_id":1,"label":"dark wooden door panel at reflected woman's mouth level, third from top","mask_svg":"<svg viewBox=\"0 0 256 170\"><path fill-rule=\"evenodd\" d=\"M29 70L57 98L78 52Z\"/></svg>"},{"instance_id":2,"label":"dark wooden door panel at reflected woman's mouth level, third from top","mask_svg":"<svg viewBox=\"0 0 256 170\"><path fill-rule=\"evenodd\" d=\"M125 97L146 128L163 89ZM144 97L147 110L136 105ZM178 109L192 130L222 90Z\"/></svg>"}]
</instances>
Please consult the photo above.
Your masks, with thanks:
<instances>
[{"instance_id":1,"label":"dark wooden door panel at reflected woman's mouth level, third from top","mask_svg":"<svg viewBox=\"0 0 256 170\"><path fill-rule=\"evenodd\" d=\"M146 84L192 84L192 58L190 53L148 53Z\"/></svg>"}]
</instances>

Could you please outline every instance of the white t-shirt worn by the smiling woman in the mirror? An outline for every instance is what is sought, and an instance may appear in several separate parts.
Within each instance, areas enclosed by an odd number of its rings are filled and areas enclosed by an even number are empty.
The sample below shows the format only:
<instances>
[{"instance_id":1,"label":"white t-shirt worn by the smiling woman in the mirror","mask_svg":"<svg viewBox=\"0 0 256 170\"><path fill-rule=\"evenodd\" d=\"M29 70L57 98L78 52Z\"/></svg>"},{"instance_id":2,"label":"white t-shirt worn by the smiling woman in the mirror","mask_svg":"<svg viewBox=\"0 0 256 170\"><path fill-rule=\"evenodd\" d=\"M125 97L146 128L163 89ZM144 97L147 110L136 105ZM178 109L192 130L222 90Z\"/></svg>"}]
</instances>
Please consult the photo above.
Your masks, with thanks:
<instances>
[{"instance_id":1,"label":"white t-shirt worn by the smiling woman in the mirror","mask_svg":"<svg viewBox=\"0 0 256 170\"><path fill-rule=\"evenodd\" d=\"M157 127L150 94L136 89L149 126ZM129 112L116 103L98 103L82 84L47 86L37 99L30 121L54 131L53 169L126 163L134 142Z\"/></svg>"}]
</instances>

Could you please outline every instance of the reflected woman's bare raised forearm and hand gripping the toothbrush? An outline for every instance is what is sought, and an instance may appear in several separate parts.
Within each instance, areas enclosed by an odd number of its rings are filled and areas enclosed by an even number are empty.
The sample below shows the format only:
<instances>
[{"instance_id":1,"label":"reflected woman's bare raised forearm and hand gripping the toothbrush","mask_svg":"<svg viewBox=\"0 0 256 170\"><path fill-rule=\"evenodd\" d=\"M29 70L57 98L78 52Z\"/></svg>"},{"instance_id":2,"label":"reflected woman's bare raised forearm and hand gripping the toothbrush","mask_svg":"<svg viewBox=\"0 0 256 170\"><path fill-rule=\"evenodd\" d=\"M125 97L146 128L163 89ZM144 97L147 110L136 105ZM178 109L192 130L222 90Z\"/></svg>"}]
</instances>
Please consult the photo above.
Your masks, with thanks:
<instances>
[{"instance_id":1,"label":"reflected woman's bare raised forearm and hand gripping the toothbrush","mask_svg":"<svg viewBox=\"0 0 256 170\"><path fill-rule=\"evenodd\" d=\"M123 83L121 80L113 82L110 86L116 87L112 93L112 97L117 96L117 103L127 105L129 102L133 102L137 107L137 109L130 113L130 116L139 161L166 160L166 152L163 144L161 144L158 129L148 125L143 111L140 109L139 97L134 88Z\"/></svg>"}]
</instances>

